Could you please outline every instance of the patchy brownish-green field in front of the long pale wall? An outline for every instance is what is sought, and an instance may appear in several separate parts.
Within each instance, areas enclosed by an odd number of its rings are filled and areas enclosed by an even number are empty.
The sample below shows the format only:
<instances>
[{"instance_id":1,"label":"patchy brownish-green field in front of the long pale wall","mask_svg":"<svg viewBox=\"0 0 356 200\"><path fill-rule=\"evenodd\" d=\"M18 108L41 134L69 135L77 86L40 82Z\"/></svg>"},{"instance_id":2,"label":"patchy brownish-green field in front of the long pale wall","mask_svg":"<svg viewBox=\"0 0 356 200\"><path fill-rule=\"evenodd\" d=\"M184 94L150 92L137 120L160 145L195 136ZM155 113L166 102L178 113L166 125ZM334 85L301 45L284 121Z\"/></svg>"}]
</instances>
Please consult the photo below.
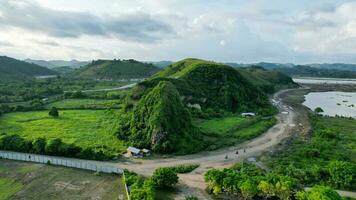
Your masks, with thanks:
<instances>
[{"instance_id":1,"label":"patchy brownish-green field in front of the long pale wall","mask_svg":"<svg viewBox=\"0 0 356 200\"><path fill-rule=\"evenodd\" d=\"M0 200L126 199L118 175L0 159Z\"/></svg>"}]
</instances>

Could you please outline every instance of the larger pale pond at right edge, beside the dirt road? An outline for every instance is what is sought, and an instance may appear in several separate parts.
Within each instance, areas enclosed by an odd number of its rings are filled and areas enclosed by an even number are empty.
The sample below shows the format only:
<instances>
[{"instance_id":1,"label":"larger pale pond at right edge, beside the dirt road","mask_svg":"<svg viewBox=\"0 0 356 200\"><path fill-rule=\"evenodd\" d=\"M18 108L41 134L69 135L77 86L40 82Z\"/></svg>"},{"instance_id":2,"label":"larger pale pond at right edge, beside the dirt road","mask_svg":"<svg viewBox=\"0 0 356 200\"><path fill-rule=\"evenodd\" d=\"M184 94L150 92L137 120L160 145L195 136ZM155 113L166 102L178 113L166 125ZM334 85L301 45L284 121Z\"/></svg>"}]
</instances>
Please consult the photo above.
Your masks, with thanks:
<instances>
[{"instance_id":1,"label":"larger pale pond at right edge, beside the dirt road","mask_svg":"<svg viewBox=\"0 0 356 200\"><path fill-rule=\"evenodd\" d=\"M320 107L323 115L356 118L356 92L311 92L303 105L311 110Z\"/></svg>"}]
</instances>

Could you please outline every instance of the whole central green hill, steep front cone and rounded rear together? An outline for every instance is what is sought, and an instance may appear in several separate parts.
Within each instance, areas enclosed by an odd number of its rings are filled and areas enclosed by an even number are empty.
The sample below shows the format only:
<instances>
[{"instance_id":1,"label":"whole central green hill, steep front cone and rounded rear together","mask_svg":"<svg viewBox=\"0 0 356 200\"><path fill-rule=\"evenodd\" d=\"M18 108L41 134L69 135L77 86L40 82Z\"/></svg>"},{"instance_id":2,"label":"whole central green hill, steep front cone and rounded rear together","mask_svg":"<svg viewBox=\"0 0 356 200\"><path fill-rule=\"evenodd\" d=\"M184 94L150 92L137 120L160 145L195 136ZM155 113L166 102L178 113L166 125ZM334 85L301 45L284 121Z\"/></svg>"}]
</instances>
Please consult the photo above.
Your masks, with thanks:
<instances>
[{"instance_id":1,"label":"whole central green hill, steep front cone and rounded rear together","mask_svg":"<svg viewBox=\"0 0 356 200\"><path fill-rule=\"evenodd\" d=\"M262 87L251 83L258 73L198 59L174 63L132 90L118 135L134 146L161 153L176 152L192 143L203 149L202 134L192 126L191 116L274 113ZM258 80L261 85L278 82L272 75Z\"/></svg>"}]
</instances>

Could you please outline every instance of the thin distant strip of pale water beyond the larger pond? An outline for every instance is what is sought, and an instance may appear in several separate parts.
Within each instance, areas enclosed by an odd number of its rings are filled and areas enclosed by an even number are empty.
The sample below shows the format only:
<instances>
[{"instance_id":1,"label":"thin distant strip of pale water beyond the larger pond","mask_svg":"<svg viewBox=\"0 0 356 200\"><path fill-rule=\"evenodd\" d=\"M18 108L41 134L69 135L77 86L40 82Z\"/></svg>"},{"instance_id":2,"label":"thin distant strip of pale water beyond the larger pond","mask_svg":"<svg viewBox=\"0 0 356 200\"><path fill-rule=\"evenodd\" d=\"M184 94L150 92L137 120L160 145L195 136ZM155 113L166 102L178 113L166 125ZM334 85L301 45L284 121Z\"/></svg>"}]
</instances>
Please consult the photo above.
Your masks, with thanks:
<instances>
[{"instance_id":1,"label":"thin distant strip of pale water beyond the larger pond","mask_svg":"<svg viewBox=\"0 0 356 200\"><path fill-rule=\"evenodd\" d=\"M342 78L293 78L293 81L301 84L355 84L356 79Z\"/></svg>"}]
</instances>

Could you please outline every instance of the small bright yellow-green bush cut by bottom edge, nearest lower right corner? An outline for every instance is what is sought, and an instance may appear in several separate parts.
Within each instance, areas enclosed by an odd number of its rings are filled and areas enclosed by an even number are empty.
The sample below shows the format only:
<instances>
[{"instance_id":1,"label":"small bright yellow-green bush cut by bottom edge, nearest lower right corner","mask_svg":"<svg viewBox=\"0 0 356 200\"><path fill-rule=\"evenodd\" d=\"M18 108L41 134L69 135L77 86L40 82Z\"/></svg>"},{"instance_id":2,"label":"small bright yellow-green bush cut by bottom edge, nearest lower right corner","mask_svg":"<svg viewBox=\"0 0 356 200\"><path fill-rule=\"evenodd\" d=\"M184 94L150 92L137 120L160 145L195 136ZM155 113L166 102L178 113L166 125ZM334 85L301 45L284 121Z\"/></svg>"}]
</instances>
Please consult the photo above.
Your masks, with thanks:
<instances>
[{"instance_id":1,"label":"small bright yellow-green bush cut by bottom edge, nearest lower right corner","mask_svg":"<svg viewBox=\"0 0 356 200\"><path fill-rule=\"evenodd\" d=\"M297 200L341 200L341 196L330 187L314 186L308 192L297 192Z\"/></svg>"}]
</instances>

